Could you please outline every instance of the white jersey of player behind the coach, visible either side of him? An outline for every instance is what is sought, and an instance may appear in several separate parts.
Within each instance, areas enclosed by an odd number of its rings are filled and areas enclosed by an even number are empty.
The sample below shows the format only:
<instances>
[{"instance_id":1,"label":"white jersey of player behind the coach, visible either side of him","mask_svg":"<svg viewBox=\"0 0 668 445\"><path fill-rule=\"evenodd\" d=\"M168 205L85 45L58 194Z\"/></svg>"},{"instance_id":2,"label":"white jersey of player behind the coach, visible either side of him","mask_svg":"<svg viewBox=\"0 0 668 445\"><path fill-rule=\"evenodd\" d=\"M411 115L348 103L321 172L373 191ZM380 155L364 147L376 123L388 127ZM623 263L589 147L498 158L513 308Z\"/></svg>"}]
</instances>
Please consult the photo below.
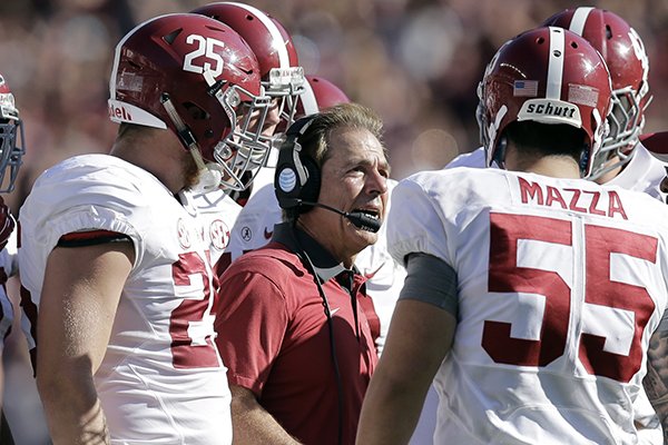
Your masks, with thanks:
<instances>
[{"instance_id":1,"label":"white jersey of player behind the coach, visible either side of him","mask_svg":"<svg viewBox=\"0 0 668 445\"><path fill-rule=\"evenodd\" d=\"M395 180L387 180L390 195L395 185ZM387 199L387 209L391 201ZM274 225L281 221L282 210L274 185L267 184L255 191L236 219L227 248L232 260L266 245L274 234ZM367 277L366 291L380 318L381 335L376 339L379 352L385 344L390 319L406 275L403 265L394 261L387 253L385 226L383 224L381 227L377 241L362 250L355 259L355 266Z\"/></svg>"}]
</instances>

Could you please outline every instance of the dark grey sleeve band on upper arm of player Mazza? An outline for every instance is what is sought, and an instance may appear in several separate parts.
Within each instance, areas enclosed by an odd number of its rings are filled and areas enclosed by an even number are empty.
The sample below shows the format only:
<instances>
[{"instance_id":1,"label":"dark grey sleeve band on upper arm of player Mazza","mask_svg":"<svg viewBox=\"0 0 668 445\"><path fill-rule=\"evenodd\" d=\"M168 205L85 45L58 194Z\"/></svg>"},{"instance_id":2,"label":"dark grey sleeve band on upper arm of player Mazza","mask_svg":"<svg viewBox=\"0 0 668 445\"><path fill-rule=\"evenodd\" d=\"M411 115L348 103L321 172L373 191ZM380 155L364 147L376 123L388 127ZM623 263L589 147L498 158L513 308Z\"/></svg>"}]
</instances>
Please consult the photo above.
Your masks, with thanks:
<instances>
[{"instance_id":1,"label":"dark grey sleeve band on upper arm of player Mazza","mask_svg":"<svg viewBox=\"0 0 668 445\"><path fill-rule=\"evenodd\" d=\"M458 316L456 271L442 259L428 254L405 258L406 279L399 299L416 299Z\"/></svg>"}]
</instances>

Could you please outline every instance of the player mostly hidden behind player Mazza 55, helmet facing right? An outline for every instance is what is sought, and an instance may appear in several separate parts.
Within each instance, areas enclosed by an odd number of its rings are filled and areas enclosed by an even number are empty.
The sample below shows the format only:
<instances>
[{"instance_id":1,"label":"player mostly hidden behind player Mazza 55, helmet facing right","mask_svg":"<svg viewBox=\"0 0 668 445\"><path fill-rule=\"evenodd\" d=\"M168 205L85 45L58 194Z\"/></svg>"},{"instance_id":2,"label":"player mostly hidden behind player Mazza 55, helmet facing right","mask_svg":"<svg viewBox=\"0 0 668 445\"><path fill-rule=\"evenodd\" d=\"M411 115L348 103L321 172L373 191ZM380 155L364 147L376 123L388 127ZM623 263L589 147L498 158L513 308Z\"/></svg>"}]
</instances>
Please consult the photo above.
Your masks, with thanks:
<instances>
[{"instance_id":1,"label":"player mostly hidden behind player Mazza 55, helmet facing right","mask_svg":"<svg viewBox=\"0 0 668 445\"><path fill-rule=\"evenodd\" d=\"M638 32L618 14L591 7L566 9L542 24L566 28L582 36L601 53L610 71L612 111L607 119L609 132L588 179L645 191L666 202L668 190L661 190L660 185L668 165L652 157L639 139L651 97L649 59ZM484 166L484 149L461 155L446 168L462 166ZM637 422L645 425L644 434L659 436L660 424L644 395L638 398L636 408Z\"/></svg>"}]
</instances>

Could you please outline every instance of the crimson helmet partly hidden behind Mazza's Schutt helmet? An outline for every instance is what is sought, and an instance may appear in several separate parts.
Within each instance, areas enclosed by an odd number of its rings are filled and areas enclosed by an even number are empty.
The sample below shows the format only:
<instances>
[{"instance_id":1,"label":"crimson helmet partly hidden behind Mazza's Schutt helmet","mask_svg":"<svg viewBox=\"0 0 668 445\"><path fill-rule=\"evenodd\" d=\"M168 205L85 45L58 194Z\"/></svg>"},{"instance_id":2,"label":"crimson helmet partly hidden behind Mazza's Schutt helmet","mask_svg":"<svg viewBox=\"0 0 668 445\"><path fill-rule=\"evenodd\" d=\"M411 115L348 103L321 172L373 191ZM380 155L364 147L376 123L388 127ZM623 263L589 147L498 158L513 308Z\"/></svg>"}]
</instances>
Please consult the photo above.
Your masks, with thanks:
<instances>
[{"instance_id":1,"label":"crimson helmet partly hidden behind Mazza's Schutt helmet","mask_svg":"<svg viewBox=\"0 0 668 445\"><path fill-rule=\"evenodd\" d=\"M610 132L595 159L589 179L628 162L645 126L645 110L651 100L648 75L649 59L642 40L621 17L598 8L576 8L561 11L543 22L569 29L596 48L610 71L612 111L608 115ZM617 155L619 162L606 166Z\"/></svg>"}]
</instances>

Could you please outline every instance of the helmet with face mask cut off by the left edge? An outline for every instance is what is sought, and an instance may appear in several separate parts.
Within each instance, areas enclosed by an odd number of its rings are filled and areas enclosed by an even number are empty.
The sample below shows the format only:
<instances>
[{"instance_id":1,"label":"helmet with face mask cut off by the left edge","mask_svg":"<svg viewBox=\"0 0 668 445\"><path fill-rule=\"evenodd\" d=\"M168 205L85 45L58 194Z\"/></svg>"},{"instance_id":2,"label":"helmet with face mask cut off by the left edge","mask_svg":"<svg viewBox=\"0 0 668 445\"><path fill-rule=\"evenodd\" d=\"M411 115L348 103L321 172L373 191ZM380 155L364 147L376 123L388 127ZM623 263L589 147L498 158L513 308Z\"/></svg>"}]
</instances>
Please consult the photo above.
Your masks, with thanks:
<instances>
[{"instance_id":1,"label":"helmet with face mask cut off by the left edge","mask_svg":"<svg viewBox=\"0 0 668 445\"><path fill-rule=\"evenodd\" d=\"M0 191L2 192L12 191L14 188L21 159L26 154L24 140L23 121L19 118L13 93L4 77L0 75ZM8 171L9 178L6 179Z\"/></svg>"}]
</instances>

